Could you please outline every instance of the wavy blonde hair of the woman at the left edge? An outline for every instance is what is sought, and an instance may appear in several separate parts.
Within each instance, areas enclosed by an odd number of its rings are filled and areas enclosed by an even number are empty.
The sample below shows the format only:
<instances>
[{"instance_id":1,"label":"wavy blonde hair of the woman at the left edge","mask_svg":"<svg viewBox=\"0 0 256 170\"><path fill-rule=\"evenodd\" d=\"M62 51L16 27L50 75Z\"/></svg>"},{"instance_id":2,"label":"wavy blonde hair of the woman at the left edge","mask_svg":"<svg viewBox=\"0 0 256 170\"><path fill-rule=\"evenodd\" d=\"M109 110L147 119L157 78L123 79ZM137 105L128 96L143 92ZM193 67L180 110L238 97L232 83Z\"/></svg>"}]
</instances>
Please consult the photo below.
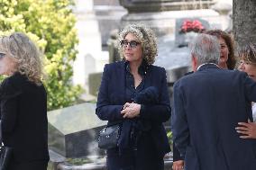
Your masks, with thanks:
<instances>
[{"instance_id":1,"label":"wavy blonde hair of the woman at the left edge","mask_svg":"<svg viewBox=\"0 0 256 170\"><path fill-rule=\"evenodd\" d=\"M28 77L36 85L41 85L41 53L36 45L22 32L0 38L1 50L10 54L17 62L15 72Z\"/></svg>"}]
</instances>

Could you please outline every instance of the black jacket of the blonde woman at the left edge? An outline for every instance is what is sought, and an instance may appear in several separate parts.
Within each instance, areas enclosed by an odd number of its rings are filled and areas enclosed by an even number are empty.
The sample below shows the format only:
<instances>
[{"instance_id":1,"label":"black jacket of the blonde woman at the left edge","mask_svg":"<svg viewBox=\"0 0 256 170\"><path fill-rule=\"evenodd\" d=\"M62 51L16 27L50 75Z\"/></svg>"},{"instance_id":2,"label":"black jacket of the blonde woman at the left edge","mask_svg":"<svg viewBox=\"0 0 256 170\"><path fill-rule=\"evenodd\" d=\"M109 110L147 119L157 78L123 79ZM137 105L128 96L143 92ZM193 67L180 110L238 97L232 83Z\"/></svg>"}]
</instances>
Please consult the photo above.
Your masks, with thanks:
<instances>
[{"instance_id":1,"label":"black jacket of the blonde woman at the left edge","mask_svg":"<svg viewBox=\"0 0 256 170\"><path fill-rule=\"evenodd\" d=\"M46 92L16 73L0 88L3 139L17 163L48 161ZM13 163L11 163L13 164Z\"/></svg>"}]
</instances>

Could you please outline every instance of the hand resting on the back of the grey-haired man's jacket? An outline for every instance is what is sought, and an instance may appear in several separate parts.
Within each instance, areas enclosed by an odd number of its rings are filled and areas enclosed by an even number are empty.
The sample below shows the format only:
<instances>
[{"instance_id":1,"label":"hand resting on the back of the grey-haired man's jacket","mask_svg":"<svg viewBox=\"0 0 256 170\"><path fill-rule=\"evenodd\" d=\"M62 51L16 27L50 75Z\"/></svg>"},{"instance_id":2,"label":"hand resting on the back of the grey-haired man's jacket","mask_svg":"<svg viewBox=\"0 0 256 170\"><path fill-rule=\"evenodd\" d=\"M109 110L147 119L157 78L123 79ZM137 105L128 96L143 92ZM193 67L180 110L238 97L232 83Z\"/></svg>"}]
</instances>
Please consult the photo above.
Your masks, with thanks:
<instances>
[{"instance_id":1,"label":"hand resting on the back of the grey-haired man's jacket","mask_svg":"<svg viewBox=\"0 0 256 170\"><path fill-rule=\"evenodd\" d=\"M235 130L237 133L242 134L240 138L242 139L256 139L256 123L248 121L246 122L239 122L240 126L236 127Z\"/></svg>"}]
</instances>

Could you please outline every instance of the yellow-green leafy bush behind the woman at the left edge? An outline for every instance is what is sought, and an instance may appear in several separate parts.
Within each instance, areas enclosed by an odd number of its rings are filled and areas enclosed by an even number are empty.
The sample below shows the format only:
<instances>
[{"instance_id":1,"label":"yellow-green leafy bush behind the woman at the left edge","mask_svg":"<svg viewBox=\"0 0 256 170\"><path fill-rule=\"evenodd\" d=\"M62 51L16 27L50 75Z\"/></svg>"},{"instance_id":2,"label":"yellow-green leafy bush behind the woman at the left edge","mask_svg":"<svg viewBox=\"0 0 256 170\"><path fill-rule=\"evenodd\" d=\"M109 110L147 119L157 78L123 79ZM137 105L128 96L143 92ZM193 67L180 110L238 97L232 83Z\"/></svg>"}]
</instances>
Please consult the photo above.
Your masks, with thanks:
<instances>
[{"instance_id":1,"label":"yellow-green leafy bush behind the woman at the left edge","mask_svg":"<svg viewBox=\"0 0 256 170\"><path fill-rule=\"evenodd\" d=\"M71 0L0 0L0 34L22 31L44 54L48 110L75 103L82 92L70 80L78 53L73 4Z\"/></svg>"}]
</instances>

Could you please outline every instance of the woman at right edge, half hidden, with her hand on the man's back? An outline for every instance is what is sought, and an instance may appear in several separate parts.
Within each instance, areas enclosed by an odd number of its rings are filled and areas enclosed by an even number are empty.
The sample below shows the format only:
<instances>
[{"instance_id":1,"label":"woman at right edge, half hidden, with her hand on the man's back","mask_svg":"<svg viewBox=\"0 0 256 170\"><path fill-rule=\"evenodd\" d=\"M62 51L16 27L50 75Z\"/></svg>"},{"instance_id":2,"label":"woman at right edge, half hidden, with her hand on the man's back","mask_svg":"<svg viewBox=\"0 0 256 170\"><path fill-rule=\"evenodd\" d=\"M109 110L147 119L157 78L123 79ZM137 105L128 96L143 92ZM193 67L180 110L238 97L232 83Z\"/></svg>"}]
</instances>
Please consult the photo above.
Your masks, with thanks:
<instances>
[{"instance_id":1,"label":"woman at right edge, half hidden, with her hand on the man's back","mask_svg":"<svg viewBox=\"0 0 256 170\"><path fill-rule=\"evenodd\" d=\"M250 43L239 52L241 71L246 72L254 81L256 81L256 44ZM236 128L242 139L256 139L256 103L251 103L253 122L239 122Z\"/></svg>"}]
</instances>

